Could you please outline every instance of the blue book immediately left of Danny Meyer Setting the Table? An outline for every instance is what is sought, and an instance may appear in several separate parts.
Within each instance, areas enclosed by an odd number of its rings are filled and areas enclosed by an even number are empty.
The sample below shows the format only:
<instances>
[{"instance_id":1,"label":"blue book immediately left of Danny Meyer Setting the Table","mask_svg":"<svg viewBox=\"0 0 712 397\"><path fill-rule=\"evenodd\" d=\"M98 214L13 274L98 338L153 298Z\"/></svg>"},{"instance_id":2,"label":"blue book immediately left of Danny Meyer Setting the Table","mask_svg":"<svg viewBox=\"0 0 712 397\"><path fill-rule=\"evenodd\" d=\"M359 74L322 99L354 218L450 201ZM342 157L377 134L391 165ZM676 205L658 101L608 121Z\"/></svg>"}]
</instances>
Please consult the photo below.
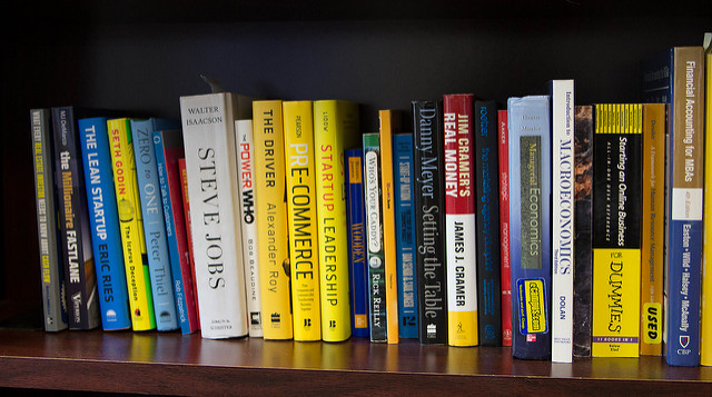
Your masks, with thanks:
<instances>
[{"instance_id":1,"label":"blue book immediately left of Danny Meyer Setting the Table","mask_svg":"<svg viewBox=\"0 0 712 397\"><path fill-rule=\"evenodd\" d=\"M398 274L398 330L402 338L418 337L418 297L415 275L415 201L413 197L413 135L393 136Z\"/></svg>"}]
</instances>

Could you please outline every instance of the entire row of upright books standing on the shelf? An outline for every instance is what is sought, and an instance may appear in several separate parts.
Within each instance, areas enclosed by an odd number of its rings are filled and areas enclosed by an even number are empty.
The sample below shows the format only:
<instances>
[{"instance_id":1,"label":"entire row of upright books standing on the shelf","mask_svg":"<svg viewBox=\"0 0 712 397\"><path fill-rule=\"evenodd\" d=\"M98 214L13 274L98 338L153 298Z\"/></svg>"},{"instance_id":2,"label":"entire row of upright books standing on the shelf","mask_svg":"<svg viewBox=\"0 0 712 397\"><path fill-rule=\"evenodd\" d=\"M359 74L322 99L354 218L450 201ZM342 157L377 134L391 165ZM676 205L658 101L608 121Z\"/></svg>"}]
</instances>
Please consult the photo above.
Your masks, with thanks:
<instances>
[{"instance_id":1,"label":"entire row of upright books standing on the shelf","mask_svg":"<svg viewBox=\"0 0 712 397\"><path fill-rule=\"evenodd\" d=\"M231 92L179 120L32 109L44 328L712 365L710 57L645 62L636 103L552 80L377 131L355 102Z\"/></svg>"}]
</instances>

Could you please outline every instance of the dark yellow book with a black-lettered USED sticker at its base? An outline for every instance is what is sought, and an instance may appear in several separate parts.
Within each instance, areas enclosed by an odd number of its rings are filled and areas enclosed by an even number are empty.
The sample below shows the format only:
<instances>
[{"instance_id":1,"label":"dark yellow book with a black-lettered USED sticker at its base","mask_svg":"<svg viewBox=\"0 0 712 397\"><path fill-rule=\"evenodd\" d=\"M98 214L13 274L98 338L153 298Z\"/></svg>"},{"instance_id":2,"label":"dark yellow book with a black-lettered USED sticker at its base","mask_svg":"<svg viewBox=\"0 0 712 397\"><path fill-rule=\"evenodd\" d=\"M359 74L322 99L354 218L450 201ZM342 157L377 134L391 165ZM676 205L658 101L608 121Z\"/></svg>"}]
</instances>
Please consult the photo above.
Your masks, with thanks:
<instances>
[{"instance_id":1,"label":"dark yellow book with a black-lettered USED sticker at its base","mask_svg":"<svg viewBox=\"0 0 712 397\"><path fill-rule=\"evenodd\" d=\"M640 354L662 355L665 105L643 105Z\"/></svg>"}]
</instances>

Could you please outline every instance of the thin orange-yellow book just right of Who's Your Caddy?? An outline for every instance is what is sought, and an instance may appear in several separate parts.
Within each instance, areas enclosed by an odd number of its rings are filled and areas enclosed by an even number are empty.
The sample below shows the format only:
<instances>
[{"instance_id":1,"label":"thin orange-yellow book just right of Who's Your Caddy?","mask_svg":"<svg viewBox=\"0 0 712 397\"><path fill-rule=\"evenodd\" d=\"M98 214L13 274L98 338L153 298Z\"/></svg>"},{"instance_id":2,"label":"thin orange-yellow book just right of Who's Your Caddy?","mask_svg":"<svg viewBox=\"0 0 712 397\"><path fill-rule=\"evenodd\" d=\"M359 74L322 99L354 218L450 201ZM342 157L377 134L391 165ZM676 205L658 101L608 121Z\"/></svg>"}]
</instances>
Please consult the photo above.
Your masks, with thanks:
<instances>
[{"instance_id":1,"label":"thin orange-yellow book just right of Who's Your Caddy?","mask_svg":"<svg viewBox=\"0 0 712 397\"><path fill-rule=\"evenodd\" d=\"M393 135L400 130L399 113L379 110L380 189L386 277L386 327L388 344L398 343L398 275L396 264L395 185L393 181Z\"/></svg>"}]
</instances>

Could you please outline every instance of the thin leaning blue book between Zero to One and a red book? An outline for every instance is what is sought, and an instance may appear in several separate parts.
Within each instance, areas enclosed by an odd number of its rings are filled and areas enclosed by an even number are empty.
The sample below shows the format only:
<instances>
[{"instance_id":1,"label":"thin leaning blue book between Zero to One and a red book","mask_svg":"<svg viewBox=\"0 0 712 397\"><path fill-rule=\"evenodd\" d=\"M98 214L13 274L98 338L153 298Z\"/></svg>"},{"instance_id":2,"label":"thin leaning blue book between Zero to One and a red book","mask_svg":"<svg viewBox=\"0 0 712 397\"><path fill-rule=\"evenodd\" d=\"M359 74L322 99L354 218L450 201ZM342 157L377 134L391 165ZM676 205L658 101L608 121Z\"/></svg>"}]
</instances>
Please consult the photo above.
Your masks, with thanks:
<instances>
[{"instance_id":1,"label":"thin leaning blue book between Zero to One and a red book","mask_svg":"<svg viewBox=\"0 0 712 397\"><path fill-rule=\"evenodd\" d=\"M180 269L180 248L176 235L176 224L174 218L174 207L170 199L170 187L168 186L168 166L166 163L166 147L161 133L162 131L154 131L154 149L156 152L156 169L158 171L158 182L160 185L160 196L164 205L164 219L166 220L166 240L168 242L168 252L170 258L170 272L174 280L174 292L176 296L176 308L178 309L178 321L182 334L191 334L195 329L190 327L188 316L188 301L186 299L185 286ZM182 211L182 208L178 210Z\"/></svg>"}]
</instances>

